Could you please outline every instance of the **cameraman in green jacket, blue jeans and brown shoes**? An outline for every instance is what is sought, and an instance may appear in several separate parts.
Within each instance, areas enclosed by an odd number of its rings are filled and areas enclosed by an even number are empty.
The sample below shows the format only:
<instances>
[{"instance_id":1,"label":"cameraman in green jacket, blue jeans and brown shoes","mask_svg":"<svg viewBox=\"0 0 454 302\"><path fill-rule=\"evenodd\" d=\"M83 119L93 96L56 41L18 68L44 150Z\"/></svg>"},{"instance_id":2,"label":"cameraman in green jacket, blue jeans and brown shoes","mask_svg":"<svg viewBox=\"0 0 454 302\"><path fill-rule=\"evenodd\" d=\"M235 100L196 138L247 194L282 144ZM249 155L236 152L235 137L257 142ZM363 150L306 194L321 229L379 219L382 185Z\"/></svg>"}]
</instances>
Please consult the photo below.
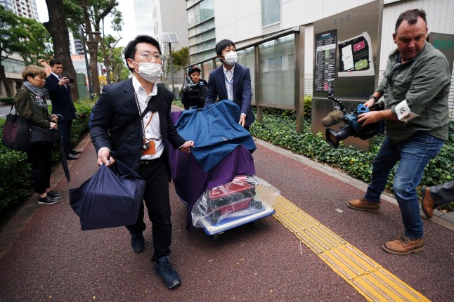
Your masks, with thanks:
<instances>
[{"instance_id":1,"label":"cameraman in green jacket, blue jeans and brown shoes","mask_svg":"<svg viewBox=\"0 0 454 302\"><path fill-rule=\"evenodd\" d=\"M363 126L385 121L387 137L372 162L372 181L365 196L351 200L351 209L378 213L382 194L391 169L393 191L401 210L405 232L385 242L382 249L390 254L424 251L424 230L416 187L424 168L436 157L448 139L448 60L427 39L426 13L419 9L399 15L394 43L384 78L365 106L370 108L384 96L384 110L358 115Z\"/></svg>"}]
</instances>

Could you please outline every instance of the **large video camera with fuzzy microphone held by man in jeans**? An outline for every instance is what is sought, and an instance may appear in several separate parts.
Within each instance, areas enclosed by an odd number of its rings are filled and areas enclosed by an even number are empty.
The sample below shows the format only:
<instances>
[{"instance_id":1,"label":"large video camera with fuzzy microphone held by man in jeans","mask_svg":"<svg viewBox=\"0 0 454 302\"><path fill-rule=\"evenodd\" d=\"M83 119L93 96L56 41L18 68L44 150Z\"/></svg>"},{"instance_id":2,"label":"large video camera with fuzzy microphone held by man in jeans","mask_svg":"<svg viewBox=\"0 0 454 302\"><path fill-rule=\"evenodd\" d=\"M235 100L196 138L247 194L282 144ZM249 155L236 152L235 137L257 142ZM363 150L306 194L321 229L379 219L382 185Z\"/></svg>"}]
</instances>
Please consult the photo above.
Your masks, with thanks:
<instances>
[{"instance_id":1,"label":"large video camera with fuzzy microphone held by man in jeans","mask_svg":"<svg viewBox=\"0 0 454 302\"><path fill-rule=\"evenodd\" d=\"M326 117L322 119L322 124L325 127L334 126L340 122L344 122L344 126L339 128L338 131L334 131L330 128L326 129L325 137L326 142L333 148L339 147L339 142L348 138L349 136L354 136L361 138L362 140L367 140L376 136L378 133L384 132L384 121L375 122L368 124L366 126L361 126L361 123L358 122L358 115L361 113L369 111L378 111L384 109L383 102L377 102L372 108L365 107L363 104L358 104L358 106L352 111L347 112L344 105L340 100L334 97L331 89L327 90L328 99L335 101L339 106L335 106L335 110L328 113Z\"/></svg>"}]
</instances>

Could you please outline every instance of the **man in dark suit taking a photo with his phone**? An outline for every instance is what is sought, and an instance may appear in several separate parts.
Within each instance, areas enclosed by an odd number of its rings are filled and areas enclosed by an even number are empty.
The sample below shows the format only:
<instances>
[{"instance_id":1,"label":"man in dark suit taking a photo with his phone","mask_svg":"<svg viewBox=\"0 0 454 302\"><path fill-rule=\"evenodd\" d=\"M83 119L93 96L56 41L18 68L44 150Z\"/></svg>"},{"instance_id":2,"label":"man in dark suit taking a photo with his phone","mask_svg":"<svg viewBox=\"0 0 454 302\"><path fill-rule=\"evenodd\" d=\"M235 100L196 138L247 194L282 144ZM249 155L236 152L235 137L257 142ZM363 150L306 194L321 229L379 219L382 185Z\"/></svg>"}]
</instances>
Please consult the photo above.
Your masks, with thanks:
<instances>
[{"instance_id":1,"label":"man in dark suit taking a photo with his phone","mask_svg":"<svg viewBox=\"0 0 454 302\"><path fill-rule=\"evenodd\" d=\"M63 148L66 159L78 159L77 154L81 151L71 147L70 133L72 120L76 118L76 108L71 100L70 79L62 77L63 63L61 60L52 59L49 62L52 73L46 78L46 89L52 103L52 113L60 114L63 119L58 119L58 129L63 136Z\"/></svg>"}]
</instances>

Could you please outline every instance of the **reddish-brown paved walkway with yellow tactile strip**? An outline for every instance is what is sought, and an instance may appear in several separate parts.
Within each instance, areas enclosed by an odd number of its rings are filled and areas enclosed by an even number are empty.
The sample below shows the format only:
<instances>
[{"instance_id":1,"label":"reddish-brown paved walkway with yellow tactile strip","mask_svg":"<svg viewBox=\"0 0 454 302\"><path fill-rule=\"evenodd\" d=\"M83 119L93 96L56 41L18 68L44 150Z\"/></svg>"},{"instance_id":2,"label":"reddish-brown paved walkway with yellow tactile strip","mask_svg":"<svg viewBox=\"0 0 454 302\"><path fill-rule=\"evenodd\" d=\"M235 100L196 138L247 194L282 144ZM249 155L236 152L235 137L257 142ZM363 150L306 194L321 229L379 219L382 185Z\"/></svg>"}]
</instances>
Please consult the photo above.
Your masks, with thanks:
<instances>
[{"instance_id":1,"label":"reddish-brown paved walkway with yellow tactile strip","mask_svg":"<svg viewBox=\"0 0 454 302\"><path fill-rule=\"evenodd\" d=\"M71 183L61 169L52 176L65 193L61 202L38 206L32 197L0 233L0 301L454 300L453 223L424 221L423 253L386 254L382 243L403 230L392 196L382 198L389 202L381 214L352 211L346 201L367 184L260 140L257 176L283 196L276 215L213 241L202 230L186 232L186 207L171 187L171 261L183 283L169 291L153 273L150 228L142 254L131 251L124 228L80 230L67 190L97 165L88 136L78 149L84 152L70 162ZM392 283L376 288L384 275Z\"/></svg>"}]
</instances>

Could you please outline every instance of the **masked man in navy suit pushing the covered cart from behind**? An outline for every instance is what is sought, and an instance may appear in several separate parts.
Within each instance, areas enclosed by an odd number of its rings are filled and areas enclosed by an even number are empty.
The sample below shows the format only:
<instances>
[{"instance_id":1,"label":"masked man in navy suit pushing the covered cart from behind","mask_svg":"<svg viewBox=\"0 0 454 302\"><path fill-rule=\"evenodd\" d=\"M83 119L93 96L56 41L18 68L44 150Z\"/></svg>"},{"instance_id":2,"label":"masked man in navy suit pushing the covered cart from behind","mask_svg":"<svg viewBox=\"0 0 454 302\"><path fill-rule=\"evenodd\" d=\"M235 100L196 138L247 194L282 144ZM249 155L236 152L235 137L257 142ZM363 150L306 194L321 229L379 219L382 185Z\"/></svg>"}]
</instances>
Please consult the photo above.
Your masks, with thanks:
<instances>
[{"instance_id":1,"label":"masked man in navy suit pushing the covered cart from behind","mask_svg":"<svg viewBox=\"0 0 454 302\"><path fill-rule=\"evenodd\" d=\"M249 68L236 63L235 44L230 40L222 40L216 44L216 54L222 65L210 72L208 79L207 98L205 107L219 100L233 100L240 106L240 121L238 122L249 131L249 126L254 122L251 99L251 73Z\"/></svg>"}]
</instances>

